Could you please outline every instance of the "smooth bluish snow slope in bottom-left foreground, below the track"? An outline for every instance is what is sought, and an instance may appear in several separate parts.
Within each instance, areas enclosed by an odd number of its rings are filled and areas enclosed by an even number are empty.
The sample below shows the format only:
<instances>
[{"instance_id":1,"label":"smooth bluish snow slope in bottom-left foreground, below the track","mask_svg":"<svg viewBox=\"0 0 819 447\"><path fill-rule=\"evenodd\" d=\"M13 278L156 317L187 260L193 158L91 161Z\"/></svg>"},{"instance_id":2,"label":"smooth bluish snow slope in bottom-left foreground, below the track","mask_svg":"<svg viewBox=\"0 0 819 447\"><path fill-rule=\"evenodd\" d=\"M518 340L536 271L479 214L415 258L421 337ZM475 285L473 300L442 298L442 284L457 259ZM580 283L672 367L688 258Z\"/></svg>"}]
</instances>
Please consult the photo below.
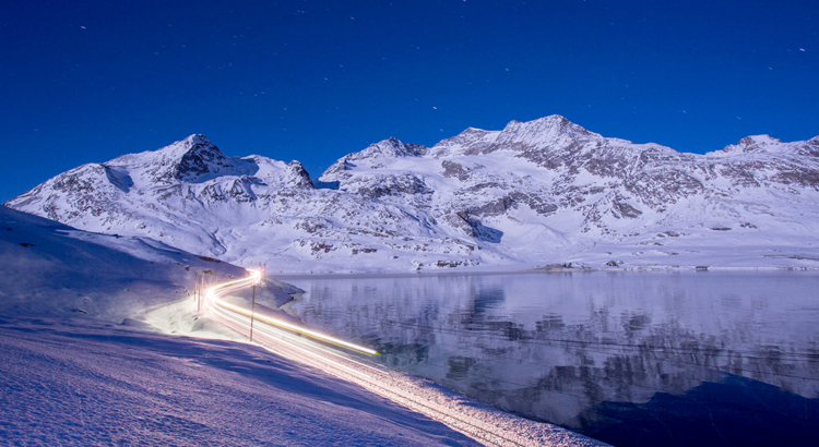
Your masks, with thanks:
<instances>
[{"instance_id":1,"label":"smooth bluish snow slope in bottom-left foreground, below the track","mask_svg":"<svg viewBox=\"0 0 819 447\"><path fill-rule=\"evenodd\" d=\"M0 444L476 445L251 345L4 319L0 351Z\"/></svg>"}]
</instances>

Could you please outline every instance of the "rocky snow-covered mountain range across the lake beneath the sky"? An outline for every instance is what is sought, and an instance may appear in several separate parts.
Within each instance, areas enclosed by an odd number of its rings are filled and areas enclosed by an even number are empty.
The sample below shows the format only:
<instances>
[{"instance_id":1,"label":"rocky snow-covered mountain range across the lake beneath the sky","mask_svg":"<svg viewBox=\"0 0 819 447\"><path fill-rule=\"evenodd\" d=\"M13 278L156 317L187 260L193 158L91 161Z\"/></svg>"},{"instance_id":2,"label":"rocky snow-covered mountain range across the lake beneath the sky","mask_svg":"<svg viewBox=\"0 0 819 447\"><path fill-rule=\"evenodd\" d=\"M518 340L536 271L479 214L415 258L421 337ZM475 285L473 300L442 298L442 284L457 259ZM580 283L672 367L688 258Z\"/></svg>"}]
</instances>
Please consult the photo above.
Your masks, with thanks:
<instances>
[{"instance_id":1,"label":"rocky snow-covered mountain range across the lake beneath the sky","mask_svg":"<svg viewBox=\"0 0 819 447\"><path fill-rule=\"evenodd\" d=\"M432 147L384 140L312 181L298 161L191 135L7 205L272 271L817 266L819 136L695 155L550 116Z\"/></svg>"}]
</instances>

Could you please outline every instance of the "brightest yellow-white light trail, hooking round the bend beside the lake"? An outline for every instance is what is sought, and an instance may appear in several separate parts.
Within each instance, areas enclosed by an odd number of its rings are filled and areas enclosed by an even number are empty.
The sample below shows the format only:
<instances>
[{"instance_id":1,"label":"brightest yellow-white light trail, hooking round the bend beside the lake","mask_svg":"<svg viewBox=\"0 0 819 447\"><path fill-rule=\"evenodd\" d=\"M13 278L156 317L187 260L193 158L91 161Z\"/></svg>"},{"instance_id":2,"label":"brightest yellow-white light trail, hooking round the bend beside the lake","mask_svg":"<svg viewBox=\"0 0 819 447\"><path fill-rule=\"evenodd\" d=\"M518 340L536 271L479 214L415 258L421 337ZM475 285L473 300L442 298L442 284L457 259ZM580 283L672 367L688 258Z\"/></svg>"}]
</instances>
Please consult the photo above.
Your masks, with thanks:
<instances>
[{"instance_id":1,"label":"brightest yellow-white light trail, hooking round the bend beside the lake","mask_svg":"<svg viewBox=\"0 0 819 447\"><path fill-rule=\"evenodd\" d=\"M283 321L283 319L280 319L280 318L275 318L275 317L270 316L270 315L264 315L264 314L261 314L261 313L258 313L258 312L251 312L247 307L242 307L242 306L239 306L239 305L236 305L236 304L228 303L225 300L223 300L222 298L219 298L221 295L224 295L224 294L226 294L228 292L232 292L234 290L238 290L238 289L242 289L242 288L246 288L246 287L254 286L254 285L261 282L262 271L260 271L260 270L248 270L248 271L250 271L251 275L249 277L247 277L247 278L242 278L242 279L237 279L237 280L224 282L224 283L221 283L221 285L217 285L217 286L214 286L214 287L207 289L205 291L205 300L206 300L205 301L205 311L207 311L211 306L214 306L214 310L216 307L222 307L222 310L229 310L229 311L233 311L235 313L238 313L238 314L241 314L241 315L245 315L245 316L248 316L248 317L250 317L252 315L253 318L256 318L258 321L261 321L261 322L264 322L264 323L266 323L269 325L277 326L277 327L281 327L281 328L284 328L284 329L287 329L287 330L290 330L290 331L294 331L294 333L297 333L297 334L301 334L301 335L305 335L307 337L310 337L310 338L313 338L313 339L317 339L317 340L320 340L320 341L323 341L323 342L327 342L327 343L335 345L335 346L339 346L339 347L342 347L342 348L345 348L345 349L349 349L349 350L353 350L353 351L356 351L356 352L360 352L360 353L367 354L367 355L379 355L378 351L376 351L376 350L372 350L372 349L369 349L369 348L365 348L363 346L358 346L358 345L355 345L355 343L351 343L348 341L345 341L345 340L342 340L342 339L339 339L339 338L335 338L335 337L331 337L329 335L324 335L324 334L318 333L316 330L308 329L306 327L302 327L302 326L299 326L299 325L295 325L293 323L289 323L289 322L286 322L286 321ZM244 326L247 326L244 323L239 323L239 322L236 322L236 323L242 324Z\"/></svg>"}]
</instances>

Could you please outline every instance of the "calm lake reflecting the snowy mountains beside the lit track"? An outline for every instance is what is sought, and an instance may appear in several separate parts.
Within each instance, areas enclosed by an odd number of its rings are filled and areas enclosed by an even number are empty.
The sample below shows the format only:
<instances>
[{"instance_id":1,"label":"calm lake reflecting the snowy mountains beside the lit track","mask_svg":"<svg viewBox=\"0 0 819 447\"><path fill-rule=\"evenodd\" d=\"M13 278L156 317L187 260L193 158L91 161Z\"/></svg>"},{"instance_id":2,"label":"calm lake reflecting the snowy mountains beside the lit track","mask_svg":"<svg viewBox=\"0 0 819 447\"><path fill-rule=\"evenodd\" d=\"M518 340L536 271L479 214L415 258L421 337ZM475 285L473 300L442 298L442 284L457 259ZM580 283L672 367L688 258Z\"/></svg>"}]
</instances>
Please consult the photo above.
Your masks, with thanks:
<instances>
[{"instance_id":1,"label":"calm lake reflecting the snowy mountains beside the lit track","mask_svg":"<svg viewBox=\"0 0 819 447\"><path fill-rule=\"evenodd\" d=\"M614 445L819 445L815 273L282 279L379 362Z\"/></svg>"}]
</instances>

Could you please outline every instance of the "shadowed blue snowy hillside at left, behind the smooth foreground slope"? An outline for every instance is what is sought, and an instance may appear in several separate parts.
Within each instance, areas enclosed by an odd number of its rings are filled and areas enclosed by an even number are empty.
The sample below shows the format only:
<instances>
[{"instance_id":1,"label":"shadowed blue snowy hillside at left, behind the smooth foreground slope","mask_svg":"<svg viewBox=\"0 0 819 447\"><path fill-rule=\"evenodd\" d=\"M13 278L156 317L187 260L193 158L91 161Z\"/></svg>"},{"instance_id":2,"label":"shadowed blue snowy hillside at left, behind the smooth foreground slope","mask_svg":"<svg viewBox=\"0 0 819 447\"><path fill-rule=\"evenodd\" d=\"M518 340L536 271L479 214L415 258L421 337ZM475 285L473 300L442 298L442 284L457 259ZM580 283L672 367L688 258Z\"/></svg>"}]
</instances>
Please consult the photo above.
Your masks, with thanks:
<instances>
[{"instance_id":1,"label":"shadowed blue snowy hillside at left, behind the smooth foreground slope","mask_svg":"<svg viewBox=\"0 0 819 447\"><path fill-rule=\"evenodd\" d=\"M0 229L5 316L120 323L189 297L197 271L245 274L151 239L90 233L4 206Z\"/></svg>"}]
</instances>

